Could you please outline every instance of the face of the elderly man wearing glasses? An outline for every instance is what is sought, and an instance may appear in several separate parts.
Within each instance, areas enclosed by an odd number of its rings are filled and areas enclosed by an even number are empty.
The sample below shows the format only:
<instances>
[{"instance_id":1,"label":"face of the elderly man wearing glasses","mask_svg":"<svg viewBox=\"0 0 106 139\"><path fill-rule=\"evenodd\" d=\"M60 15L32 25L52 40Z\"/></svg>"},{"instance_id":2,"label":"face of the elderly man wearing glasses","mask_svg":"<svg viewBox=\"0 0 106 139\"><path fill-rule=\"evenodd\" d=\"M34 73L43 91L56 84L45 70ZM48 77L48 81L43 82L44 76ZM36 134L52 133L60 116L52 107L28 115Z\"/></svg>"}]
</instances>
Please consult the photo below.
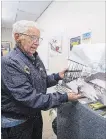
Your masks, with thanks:
<instances>
[{"instance_id":1,"label":"face of the elderly man wearing glasses","mask_svg":"<svg viewBox=\"0 0 106 139\"><path fill-rule=\"evenodd\" d=\"M24 33L20 33L18 41L21 43L21 49L33 55L39 46L40 31L37 28L30 28Z\"/></svg>"}]
</instances>

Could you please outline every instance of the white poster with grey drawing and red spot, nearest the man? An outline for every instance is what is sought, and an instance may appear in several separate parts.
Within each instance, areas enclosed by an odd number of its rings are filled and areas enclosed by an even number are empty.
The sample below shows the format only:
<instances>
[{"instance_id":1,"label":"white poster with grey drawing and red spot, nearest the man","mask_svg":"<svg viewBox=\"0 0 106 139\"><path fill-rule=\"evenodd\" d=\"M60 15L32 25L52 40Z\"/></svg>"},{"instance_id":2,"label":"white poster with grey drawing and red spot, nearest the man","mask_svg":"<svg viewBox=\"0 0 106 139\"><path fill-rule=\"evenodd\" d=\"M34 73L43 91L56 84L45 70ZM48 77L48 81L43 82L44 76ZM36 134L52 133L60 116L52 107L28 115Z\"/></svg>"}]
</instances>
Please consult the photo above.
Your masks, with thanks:
<instances>
[{"instance_id":1,"label":"white poster with grey drawing and red spot, nearest the man","mask_svg":"<svg viewBox=\"0 0 106 139\"><path fill-rule=\"evenodd\" d=\"M50 56L56 56L62 53L62 37L52 37L49 41Z\"/></svg>"}]
</instances>

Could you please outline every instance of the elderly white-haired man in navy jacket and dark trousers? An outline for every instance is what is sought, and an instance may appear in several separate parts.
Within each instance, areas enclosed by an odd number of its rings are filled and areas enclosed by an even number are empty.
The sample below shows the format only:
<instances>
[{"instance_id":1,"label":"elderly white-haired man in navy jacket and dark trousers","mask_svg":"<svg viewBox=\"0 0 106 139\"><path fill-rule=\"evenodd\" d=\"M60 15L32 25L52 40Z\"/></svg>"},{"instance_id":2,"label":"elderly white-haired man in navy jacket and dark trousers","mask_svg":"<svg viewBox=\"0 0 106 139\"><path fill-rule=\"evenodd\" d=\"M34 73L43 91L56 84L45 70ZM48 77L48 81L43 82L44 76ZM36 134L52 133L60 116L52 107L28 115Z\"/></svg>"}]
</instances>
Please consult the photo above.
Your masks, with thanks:
<instances>
[{"instance_id":1,"label":"elderly white-haired man in navy jacket and dark trousers","mask_svg":"<svg viewBox=\"0 0 106 139\"><path fill-rule=\"evenodd\" d=\"M15 48L2 57L2 136L3 139L42 139L41 110L59 106L80 95L58 92L46 94L64 77L64 72L47 76L36 52L40 31L33 21L13 25Z\"/></svg>"}]
</instances>

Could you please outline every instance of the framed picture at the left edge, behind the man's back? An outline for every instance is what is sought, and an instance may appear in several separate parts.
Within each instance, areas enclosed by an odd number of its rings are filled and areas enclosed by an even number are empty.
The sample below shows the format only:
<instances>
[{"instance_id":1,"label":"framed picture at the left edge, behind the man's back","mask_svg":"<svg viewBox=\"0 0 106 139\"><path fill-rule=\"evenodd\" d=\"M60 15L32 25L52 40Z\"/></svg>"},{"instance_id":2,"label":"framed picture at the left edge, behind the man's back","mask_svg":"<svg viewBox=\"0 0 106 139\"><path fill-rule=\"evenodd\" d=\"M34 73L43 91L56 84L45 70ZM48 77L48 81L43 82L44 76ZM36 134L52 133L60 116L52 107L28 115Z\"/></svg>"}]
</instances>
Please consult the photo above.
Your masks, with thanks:
<instances>
[{"instance_id":1,"label":"framed picture at the left edge, behind the man's back","mask_svg":"<svg viewBox=\"0 0 106 139\"><path fill-rule=\"evenodd\" d=\"M1 42L1 56L6 55L11 50L12 43L8 41Z\"/></svg>"}]
</instances>

